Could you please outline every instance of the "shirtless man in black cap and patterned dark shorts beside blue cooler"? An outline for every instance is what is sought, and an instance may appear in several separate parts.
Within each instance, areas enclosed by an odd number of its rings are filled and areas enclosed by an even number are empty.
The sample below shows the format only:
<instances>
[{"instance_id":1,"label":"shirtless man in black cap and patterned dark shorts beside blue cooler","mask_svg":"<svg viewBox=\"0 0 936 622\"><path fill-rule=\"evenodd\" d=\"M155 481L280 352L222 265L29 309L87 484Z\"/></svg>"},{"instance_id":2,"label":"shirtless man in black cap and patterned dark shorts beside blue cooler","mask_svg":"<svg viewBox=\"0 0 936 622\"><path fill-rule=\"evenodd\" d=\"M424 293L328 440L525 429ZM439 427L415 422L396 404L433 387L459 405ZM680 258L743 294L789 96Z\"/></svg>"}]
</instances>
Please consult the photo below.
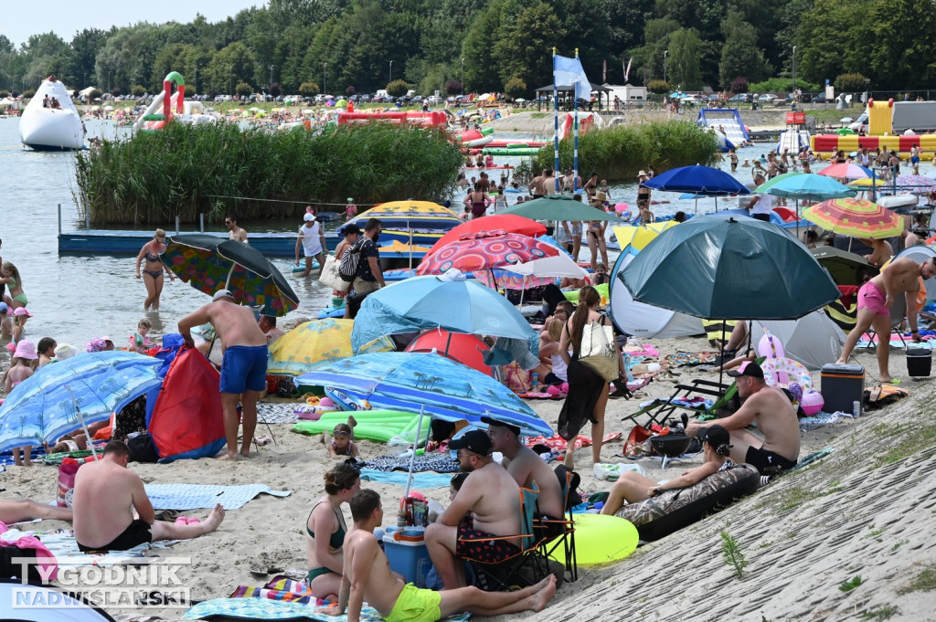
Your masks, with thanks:
<instances>
[{"instance_id":1,"label":"shirtless man in black cap and patterned dark shorts beside blue cooler","mask_svg":"<svg viewBox=\"0 0 936 622\"><path fill-rule=\"evenodd\" d=\"M426 528L426 548L446 589L467 585L464 564L470 557L494 564L519 553L519 538L485 540L520 531L519 485L493 461L490 437L472 430L448 444L457 450L459 467L470 472L439 520Z\"/></svg>"}]
</instances>

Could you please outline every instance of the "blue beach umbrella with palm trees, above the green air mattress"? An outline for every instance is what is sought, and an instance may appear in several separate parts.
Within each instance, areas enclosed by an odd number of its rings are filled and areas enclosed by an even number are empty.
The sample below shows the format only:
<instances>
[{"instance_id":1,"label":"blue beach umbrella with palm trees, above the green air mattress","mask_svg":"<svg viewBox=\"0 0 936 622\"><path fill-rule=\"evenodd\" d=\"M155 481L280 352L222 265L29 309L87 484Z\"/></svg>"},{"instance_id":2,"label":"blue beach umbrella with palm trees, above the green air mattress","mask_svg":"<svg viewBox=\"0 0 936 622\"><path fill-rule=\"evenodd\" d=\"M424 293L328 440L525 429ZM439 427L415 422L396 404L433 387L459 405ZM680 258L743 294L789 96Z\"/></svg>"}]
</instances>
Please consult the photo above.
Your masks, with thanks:
<instances>
[{"instance_id":1,"label":"blue beach umbrella with palm trees, above the green air mattress","mask_svg":"<svg viewBox=\"0 0 936 622\"><path fill-rule=\"evenodd\" d=\"M426 412L445 421L480 423L482 416L546 437L552 428L504 384L445 356L416 352L360 354L319 363L297 385L341 392L351 403L373 408Z\"/></svg>"}]
</instances>

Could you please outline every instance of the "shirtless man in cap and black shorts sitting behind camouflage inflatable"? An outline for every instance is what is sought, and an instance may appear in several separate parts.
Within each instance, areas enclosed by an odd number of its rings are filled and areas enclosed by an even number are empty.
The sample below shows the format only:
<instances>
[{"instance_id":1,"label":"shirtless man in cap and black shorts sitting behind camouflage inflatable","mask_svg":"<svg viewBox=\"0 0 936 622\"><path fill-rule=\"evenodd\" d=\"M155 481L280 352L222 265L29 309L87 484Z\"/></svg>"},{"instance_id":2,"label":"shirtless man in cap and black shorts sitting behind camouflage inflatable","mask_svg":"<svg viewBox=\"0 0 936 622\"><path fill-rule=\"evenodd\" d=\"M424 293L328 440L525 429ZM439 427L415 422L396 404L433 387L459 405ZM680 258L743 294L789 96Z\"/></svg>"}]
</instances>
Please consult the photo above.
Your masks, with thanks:
<instances>
[{"instance_id":1,"label":"shirtless man in cap and black shorts sitting behind camouflage inflatable","mask_svg":"<svg viewBox=\"0 0 936 622\"><path fill-rule=\"evenodd\" d=\"M738 383L741 407L718 424L731 433L731 459L747 462L763 475L789 470L797 466L799 457L799 423L790 398L776 386L764 380L764 370L754 361L726 372ZM764 438L744 429L757 422ZM693 421L686 434L695 436L705 423Z\"/></svg>"}]
</instances>

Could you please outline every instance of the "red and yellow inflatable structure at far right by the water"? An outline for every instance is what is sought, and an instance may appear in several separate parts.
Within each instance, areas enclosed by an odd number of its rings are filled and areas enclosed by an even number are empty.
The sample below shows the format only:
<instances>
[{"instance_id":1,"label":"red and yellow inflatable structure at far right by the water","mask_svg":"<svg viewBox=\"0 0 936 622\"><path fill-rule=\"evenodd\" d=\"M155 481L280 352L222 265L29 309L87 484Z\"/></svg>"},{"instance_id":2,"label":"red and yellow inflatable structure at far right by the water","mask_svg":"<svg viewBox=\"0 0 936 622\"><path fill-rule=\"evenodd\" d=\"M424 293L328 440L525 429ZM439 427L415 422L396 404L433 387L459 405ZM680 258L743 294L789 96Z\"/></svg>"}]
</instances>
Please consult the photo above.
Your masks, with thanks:
<instances>
[{"instance_id":1,"label":"red and yellow inflatable structure at far right by the water","mask_svg":"<svg viewBox=\"0 0 936 622\"><path fill-rule=\"evenodd\" d=\"M919 104L930 106L920 107ZM828 157L839 151L849 153L869 149L873 152L880 148L898 152L900 158L906 159L910 157L910 150L915 146L920 150L920 159L932 160L936 156L936 135L919 135L914 132L936 126L936 107L931 106L932 104L933 102L895 103L893 99L869 99L866 110L868 136L859 136L852 130L843 128L839 130L841 134L821 134L812 137L812 151ZM923 114L918 114L919 112ZM903 129L903 134L895 136L895 128L898 131Z\"/></svg>"}]
</instances>

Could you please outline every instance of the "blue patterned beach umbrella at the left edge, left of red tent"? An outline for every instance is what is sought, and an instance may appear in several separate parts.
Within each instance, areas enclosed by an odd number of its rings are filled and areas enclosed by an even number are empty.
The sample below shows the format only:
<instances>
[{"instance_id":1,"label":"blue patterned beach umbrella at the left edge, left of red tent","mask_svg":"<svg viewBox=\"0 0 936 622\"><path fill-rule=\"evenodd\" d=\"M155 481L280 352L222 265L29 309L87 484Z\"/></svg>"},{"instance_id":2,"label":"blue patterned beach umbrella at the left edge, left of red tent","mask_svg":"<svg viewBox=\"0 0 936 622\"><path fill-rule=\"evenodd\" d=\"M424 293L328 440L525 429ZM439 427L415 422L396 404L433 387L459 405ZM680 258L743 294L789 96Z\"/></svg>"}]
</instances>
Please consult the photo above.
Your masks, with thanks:
<instances>
[{"instance_id":1,"label":"blue patterned beach umbrella at the left edge, left of red tent","mask_svg":"<svg viewBox=\"0 0 936 622\"><path fill-rule=\"evenodd\" d=\"M133 352L78 354L37 369L0 406L0 451L56 441L105 421L163 382L163 362ZM89 435L90 436L90 435Z\"/></svg>"}]
</instances>

